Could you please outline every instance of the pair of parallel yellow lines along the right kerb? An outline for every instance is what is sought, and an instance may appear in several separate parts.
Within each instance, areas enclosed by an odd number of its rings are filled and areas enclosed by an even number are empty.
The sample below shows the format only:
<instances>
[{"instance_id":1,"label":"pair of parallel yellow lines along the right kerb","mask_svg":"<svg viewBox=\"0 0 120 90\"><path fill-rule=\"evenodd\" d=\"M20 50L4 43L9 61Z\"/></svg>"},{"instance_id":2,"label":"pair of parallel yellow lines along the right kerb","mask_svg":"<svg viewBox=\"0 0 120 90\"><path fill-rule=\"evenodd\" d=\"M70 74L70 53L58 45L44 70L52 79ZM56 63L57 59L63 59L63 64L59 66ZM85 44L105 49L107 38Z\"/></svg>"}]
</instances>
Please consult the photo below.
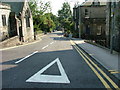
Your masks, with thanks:
<instances>
[{"instance_id":1,"label":"pair of parallel yellow lines along the right kerb","mask_svg":"<svg viewBox=\"0 0 120 90\"><path fill-rule=\"evenodd\" d=\"M93 70L93 72L97 75L97 77L100 79L100 81L103 83L105 88L112 90L111 87L108 85L108 83L103 79L103 77L98 73L98 71L111 83L111 85L116 88L116 90L120 90L120 88L113 82L113 80L106 75L106 73L99 68L78 46L70 40L71 44L74 46L74 48L78 51L78 53L82 56L82 58L85 60L85 62L88 64L88 66ZM94 67L98 70L96 70Z\"/></svg>"}]
</instances>

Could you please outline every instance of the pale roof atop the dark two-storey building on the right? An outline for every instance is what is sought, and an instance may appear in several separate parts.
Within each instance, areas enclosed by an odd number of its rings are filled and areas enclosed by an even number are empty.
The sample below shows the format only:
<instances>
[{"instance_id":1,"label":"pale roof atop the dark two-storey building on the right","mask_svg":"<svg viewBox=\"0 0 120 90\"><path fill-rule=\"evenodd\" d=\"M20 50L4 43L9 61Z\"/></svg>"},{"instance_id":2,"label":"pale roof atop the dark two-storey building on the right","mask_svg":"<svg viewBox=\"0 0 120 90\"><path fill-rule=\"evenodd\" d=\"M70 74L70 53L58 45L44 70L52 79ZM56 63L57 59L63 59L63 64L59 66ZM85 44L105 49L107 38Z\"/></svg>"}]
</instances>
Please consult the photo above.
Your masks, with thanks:
<instances>
[{"instance_id":1,"label":"pale roof atop the dark two-storey building on the right","mask_svg":"<svg viewBox=\"0 0 120 90\"><path fill-rule=\"evenodd\" d=\"M81 6L91 6L93 5L93 2L99 2L100 6L104 6L107 4L107 0L87 0Z\"/></svg>"}]
</instances>

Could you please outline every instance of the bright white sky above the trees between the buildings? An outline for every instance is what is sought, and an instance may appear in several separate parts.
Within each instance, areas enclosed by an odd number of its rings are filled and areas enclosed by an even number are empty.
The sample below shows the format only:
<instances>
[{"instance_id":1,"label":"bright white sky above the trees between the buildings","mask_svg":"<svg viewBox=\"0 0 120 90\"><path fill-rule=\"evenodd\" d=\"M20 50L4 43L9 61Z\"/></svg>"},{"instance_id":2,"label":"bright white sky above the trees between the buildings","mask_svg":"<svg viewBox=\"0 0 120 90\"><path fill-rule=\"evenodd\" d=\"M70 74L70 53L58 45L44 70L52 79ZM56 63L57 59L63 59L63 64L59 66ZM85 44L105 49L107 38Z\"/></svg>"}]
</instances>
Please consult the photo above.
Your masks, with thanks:
<instances>
[{"instance_id":1,"label":"bright white sky above the trees between the buildings","mask_svg":"<svg viewBox=\"0 0 120 90\"><path fill-rule=\"evenodd\" d=\"M73 10L74 4L79 2L79 4L83 3L85 0L44 0L46 1L50 1L51 2L51 7L52 7L52 13L54 15L57 15L57 11L61 9L62 4L64 2L69 2L70 6L71 6L71 10Z\"/></svg>"}]
</instances>

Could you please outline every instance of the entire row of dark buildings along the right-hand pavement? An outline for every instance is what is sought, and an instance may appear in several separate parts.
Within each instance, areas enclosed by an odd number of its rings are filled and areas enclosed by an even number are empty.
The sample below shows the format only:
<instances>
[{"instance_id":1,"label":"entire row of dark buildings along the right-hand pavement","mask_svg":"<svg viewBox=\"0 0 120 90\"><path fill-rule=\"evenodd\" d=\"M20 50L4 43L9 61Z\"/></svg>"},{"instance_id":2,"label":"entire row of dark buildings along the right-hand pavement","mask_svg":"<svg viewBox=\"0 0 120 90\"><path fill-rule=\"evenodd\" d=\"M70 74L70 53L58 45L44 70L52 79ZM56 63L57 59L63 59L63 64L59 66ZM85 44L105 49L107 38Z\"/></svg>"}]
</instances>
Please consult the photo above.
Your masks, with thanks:
<instances>
[{"instance_id":1,"label":"entire row of dark buildings along the right-hand pavement","mask_svg":"<svg viewBox=\"0 0 120 90\"><path fill-rule=\"evenodd\" d=\"M120 51L120 0L86 0L73 11L79 37Z\"/></svg>"}]
</instances>

